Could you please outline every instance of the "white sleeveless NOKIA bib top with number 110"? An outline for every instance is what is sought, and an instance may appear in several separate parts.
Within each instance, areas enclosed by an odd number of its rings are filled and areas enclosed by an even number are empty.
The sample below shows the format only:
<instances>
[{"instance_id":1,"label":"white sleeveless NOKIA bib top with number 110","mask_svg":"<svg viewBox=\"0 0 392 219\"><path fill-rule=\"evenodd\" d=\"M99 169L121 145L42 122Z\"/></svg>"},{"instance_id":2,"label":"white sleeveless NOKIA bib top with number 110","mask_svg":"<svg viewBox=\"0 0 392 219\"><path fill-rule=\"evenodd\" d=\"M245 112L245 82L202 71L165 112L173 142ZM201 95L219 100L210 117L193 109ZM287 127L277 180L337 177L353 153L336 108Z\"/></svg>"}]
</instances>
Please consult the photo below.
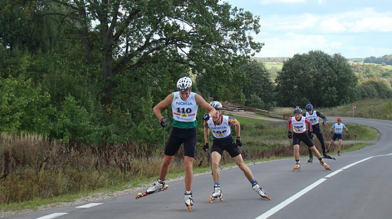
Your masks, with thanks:
<instances>
[{"instance_id":1,"label":"white sleeveless NOKIA bib top with number 110","mask_svg":"<svg viewBox=\"0 0 392 219\"><path fill-rule=\"evenodd\" d=\"M181 99L180 92L173 92L172 112L173 119L180 122L193 122L196 120L197 104L196 93L191 92L186 100Z\"/></svg>"}]
</instances>

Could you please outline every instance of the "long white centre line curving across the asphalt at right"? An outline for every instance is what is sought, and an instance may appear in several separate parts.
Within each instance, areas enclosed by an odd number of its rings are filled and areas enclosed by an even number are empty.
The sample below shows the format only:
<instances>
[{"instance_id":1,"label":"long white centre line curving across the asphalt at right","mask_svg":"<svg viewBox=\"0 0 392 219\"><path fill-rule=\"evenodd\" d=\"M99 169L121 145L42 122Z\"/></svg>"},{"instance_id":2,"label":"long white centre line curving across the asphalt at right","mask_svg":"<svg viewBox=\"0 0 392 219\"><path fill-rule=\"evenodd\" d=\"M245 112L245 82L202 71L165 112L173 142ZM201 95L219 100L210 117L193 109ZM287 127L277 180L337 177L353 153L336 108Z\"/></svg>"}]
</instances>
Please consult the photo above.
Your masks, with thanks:
<instances>
[{"instance_id":1,"label":"long white centre line curving across the asphalt at right","mask_svg":"<svg viewBox=\"0 0 392 219\"><path fill-rule=\"evenodd\" d=\"M392 155L392 153L383 154L383 155L377 155L377 156L388 156L388 155ZM336 170L336 171L332 172L332 173L329 174L329 175L324 176L323 178L317 180L316 182L314 182L314 183L311 184L310 186L308 186L308 187L306 187L305 189L299 191L299 192L298 192L297 194L295 194L294 196L287 198L287 199L284 200L282 203L276 205L275 207L271 208L270 210L266 211L264 214L260 215L259 217L255 218L255 219L267 219L267 218L269 218L271 215L275 214L276 212L278 212L278 211L281 210L282 208L286 207L287 205L289 205L291 202L293 202L293 201L296 200L297 198L301 197L301 196L304 195L305 193L309 192L310 190L312 190L313 188L315 188L316 186L318 186L319 184L321 184L322 182L324 182L325 180L327 180L327 179L325 179L326 177L331 177L331 176L333 176L333 175L336 175L336 174L342 172L343 170L346 170L346 169L348 169L348 168L350 168L350 167L352 167L352 166L354 166L354 165L356 165L356 164L359 164L359 163L361 163L361 162L364 162L364 161L366 161L366 160L368 160L368 159L370 159L370 158L373 158L373 157L375 157L375 156L370 156L370 157L367 157L367 158L365 158L365 159L359 160L359 161L354 162L354 163L352 163L352 164L350 164L350 165L347 165L347 166L345 166L345 167L343 167L343 168L341 168L341 169L339 169L339 170Z\"/></svg>"}]
</instances>

